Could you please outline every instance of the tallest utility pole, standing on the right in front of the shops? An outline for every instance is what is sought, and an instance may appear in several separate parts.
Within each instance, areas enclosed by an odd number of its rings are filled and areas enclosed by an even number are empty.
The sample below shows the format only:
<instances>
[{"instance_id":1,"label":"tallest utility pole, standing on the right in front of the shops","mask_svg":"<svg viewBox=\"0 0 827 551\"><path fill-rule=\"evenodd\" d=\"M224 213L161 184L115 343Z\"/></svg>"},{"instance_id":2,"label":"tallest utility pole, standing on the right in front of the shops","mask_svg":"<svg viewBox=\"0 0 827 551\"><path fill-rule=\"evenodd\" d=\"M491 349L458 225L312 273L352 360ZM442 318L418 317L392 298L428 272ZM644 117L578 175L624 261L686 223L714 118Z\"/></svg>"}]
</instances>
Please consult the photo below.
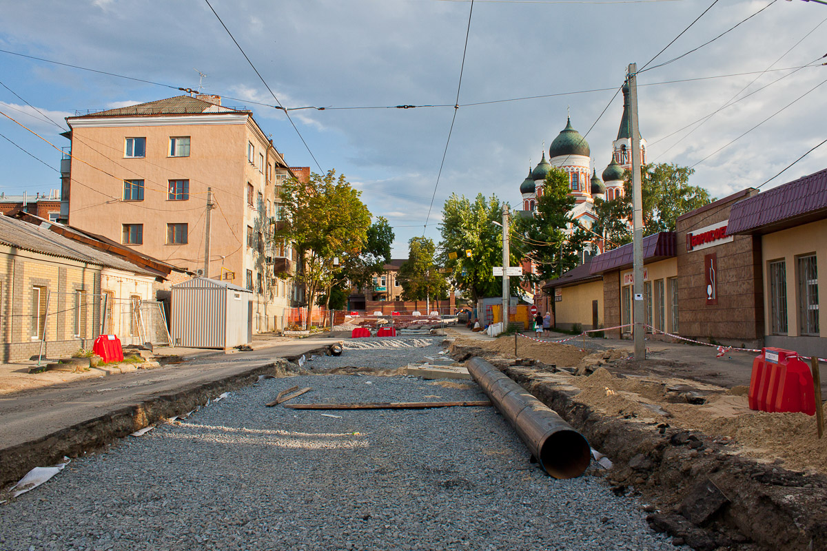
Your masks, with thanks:
<instances>
[{"instance_id":1,"label":"tallest utility pole, standing on the right in front of the shops","mask_svg":"<svg viewBox=\"0 0 827 551\"><path fill-rule=\"evenodd\" d=\"M640 184L640 133L638 132L638 64L629 64L629 122L632 131L632 225L633 225L633 331L634 359L646 359L646 315L643 310L643 194Z\"/></svg>"}]
</instances>

